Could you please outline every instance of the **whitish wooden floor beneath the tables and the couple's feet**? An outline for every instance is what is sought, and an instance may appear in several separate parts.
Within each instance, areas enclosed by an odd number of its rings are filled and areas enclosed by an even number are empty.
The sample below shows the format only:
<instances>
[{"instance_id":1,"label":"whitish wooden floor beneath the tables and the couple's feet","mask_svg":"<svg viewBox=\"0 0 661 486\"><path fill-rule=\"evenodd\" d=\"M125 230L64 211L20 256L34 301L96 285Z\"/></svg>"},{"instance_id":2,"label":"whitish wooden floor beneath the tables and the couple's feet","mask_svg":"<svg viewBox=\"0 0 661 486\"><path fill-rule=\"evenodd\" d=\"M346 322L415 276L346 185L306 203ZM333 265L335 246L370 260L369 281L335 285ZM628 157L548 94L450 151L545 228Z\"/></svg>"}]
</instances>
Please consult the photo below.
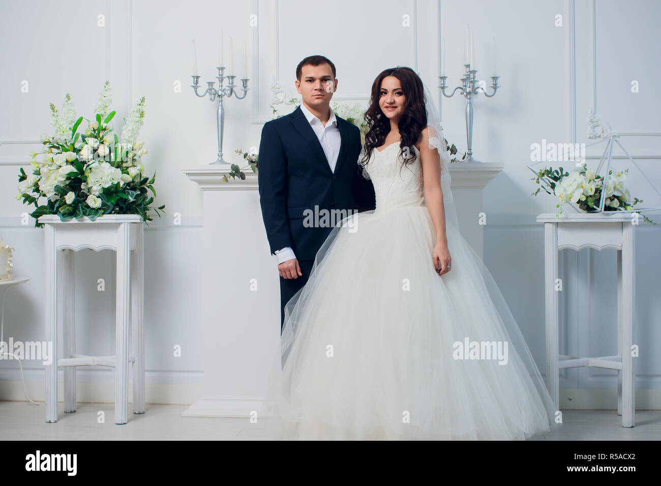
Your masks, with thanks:
<instances>
[{"instance_id":1,"label":"whitish wooden floor beneath the tables and the couple's feet","mask_svg":"<svg viewBox=\"0 0 661 486\"><path fill-rule=\"evenodd\" d=\"M112 403L78 403L75 413L58 404L58 422L46 423L43 403L0 401L0 440L268 440L264 426L249 419L182 417L186 405L150 405L144 414L114 423ZM99 412L105 423L98 423ZM263 419L264 420L268 419ZM563 411L561 432L530 440L661 440L661 411L637 411L636 426L623 428L615 411Z\"/></svg>"}]
</instances>

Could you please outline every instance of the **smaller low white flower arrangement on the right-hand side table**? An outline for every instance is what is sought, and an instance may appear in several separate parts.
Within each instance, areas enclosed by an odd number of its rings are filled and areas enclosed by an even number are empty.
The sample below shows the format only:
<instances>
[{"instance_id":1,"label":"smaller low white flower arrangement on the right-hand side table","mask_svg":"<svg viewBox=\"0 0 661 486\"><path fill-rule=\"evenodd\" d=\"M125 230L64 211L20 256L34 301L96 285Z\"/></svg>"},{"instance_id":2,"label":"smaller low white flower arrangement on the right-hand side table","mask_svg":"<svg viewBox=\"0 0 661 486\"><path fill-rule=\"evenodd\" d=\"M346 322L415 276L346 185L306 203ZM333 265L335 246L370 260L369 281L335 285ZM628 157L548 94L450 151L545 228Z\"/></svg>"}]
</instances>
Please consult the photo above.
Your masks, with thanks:
<instances>
[{"instance_id":1,"label":"smaller low white flower arrangement on the right-hand side table","mask_svg":"<svg viewBox=\"0 0 661 486\"><path fill-rule=\"evenodd\" d=\"M605 188L605 201L603 203L604 211L629 211L633 206L642 202L642 199L633 198L629 189L624 186L629 169L613 173L611 169L608 172L608 182ZM594 171L588 169L588 165L583 162L576 167L572 173L564 171L563 167L553 170L553 167L544 168L537 172L537 177L532 181L541 186L537 188L532 196L537 196L542 189L547 194L553 194L559 199L556 208L560 208L557 216L563 212L564 204L571 204L579 212L599 212L599 204L602 198L603 177L596 175ZM540 182L541 181L541 182ZM652 224L649 218L641 214L642 218Z\"/></svg>"}]
</instances>

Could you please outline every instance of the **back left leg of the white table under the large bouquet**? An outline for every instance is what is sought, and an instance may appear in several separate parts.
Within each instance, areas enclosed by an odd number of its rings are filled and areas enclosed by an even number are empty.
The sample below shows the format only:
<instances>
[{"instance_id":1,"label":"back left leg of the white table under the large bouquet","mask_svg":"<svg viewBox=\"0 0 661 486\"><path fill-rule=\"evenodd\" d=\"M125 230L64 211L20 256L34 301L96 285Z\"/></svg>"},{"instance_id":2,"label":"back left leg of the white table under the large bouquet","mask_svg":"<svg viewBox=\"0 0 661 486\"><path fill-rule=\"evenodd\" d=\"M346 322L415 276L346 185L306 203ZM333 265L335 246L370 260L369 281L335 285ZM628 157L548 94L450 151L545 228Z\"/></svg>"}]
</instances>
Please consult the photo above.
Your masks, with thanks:
<instances>
[{"instance_id":1,"label":"back left leg of the white table under the large bouquet","mask_svg":"<svg viewBox=\"0 0 661 486\"><path fill-rule=\"evenodd\" d=\"M63 294L63 355L71 358L76 349L75 327L75 252L71 249L62 250L62 278L59 280ZM64 368L64 411L76 411L76 367Z\"/></svg>"}]
</instances>

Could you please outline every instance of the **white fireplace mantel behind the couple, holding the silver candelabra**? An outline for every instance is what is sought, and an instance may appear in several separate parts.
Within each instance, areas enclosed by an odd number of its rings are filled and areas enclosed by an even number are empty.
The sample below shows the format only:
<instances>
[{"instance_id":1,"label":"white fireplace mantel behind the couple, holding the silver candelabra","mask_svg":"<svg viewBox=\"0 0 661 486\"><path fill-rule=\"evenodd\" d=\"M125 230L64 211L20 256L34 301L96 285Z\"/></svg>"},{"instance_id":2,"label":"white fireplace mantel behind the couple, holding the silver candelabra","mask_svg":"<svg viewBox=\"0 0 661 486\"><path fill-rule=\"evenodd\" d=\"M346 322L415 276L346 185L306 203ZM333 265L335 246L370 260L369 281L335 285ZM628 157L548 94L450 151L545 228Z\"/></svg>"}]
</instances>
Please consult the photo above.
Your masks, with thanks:
<instances>
[{"instance_id":1,"label":"white fireplace mantel behind the couple, holding the silver candelabra","mask_svg":"<svg viewBox=\"0 0 661 486\"><path fill-rule=\"evenodd\" d=\"M280 345L278 261L270 255L257 175L223 182L218 165L182 168L202 188L204 395L184 417L251 417L260 411ZM482 194L502 163L452 163L461 233L482 257Z\"/></svg>"}]
</instances>

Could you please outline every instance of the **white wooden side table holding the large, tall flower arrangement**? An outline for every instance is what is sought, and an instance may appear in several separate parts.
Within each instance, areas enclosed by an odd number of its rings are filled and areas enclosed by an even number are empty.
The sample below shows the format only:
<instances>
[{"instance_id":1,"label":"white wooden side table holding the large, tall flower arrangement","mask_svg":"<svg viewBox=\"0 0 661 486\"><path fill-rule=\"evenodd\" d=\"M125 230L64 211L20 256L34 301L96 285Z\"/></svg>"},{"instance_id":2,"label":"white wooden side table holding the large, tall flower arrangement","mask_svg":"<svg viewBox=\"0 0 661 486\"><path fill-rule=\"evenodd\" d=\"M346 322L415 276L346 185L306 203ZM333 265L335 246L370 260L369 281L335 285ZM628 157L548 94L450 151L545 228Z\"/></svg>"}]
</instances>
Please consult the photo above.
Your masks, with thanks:
<instances>
[{"instance_id":1,"label":"white wooden side table holding the large, tall flower arrangement","mask_svg":"<svg viewBox=\"0 0 661 486\"><path fill-rule=\"evenodd\" d=\"M58 421L58 368L64 368L64 411L76 411L76 366L115 368L115 423L125 424L128 411L128 364L133 363L134 413L145 412L145 361L143 338L143 220L139 215L104 214L95 222L87 218L60 221L57 215L40 216L44 223L46 276L46 341L53 342L52 364L46 366L46 422ZM84 248L117 253L115 355L75 354L74 252ZM57 258L63 251L63 275ZM59 282L59 284L58 284ZM59 289L59 292L58 292ZM63 357L58 352L58 294L63 305ZM129 354L129 326L133 352Z\"/></svg>"}]
</instances>

